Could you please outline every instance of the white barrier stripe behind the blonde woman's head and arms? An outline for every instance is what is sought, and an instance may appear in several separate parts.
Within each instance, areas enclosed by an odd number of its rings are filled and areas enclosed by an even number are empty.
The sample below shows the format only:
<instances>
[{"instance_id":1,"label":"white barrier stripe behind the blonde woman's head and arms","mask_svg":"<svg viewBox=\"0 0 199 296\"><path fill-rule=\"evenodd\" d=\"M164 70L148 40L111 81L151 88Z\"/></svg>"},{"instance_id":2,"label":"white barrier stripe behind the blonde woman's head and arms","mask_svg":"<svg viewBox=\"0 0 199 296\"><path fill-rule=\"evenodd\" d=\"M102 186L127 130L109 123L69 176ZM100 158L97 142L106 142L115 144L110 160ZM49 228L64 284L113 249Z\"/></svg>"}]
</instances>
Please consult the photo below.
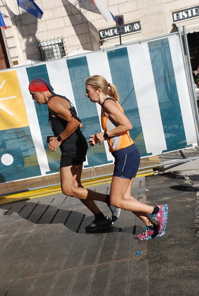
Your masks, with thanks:
<instances>
[{"instance_id":1,"label":"white barrier stripe behind the blonde woman's head and arms","mask_svg":"<svg viewBox=\"0 0 199 296\"><path fill-rule=\"evenodd\" d=\"M109 68L109 60L107 53L103 51L97 51L87 54L88 70L90 76L92 75L102 75L106 78L109 83L112 82L111 71ZM99 116L99 122L101 126L101 106L96 104L97 113ZM101 129L102 131L102 129ZM106 155L108 160L114 161L113 155L109 152L109 146L107 141L104 141L104 146L106 150Z\"/></svg>"}]
</instances>

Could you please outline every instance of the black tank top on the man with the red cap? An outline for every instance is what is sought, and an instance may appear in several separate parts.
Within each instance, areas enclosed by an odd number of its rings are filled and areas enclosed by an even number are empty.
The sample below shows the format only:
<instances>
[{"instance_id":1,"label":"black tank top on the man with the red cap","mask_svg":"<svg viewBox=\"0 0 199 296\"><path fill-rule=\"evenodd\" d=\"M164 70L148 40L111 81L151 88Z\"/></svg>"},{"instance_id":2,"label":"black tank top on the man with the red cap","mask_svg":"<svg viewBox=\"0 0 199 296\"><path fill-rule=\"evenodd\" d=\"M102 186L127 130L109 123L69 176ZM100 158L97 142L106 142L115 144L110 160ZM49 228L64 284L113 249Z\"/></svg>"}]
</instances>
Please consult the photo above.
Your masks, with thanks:
<instances>
[{"instance_id":1,"label":"black tank top on the man with the red cap","mask_svg":"<svg viewBox=\"0 0 199 296\"><path fill-rule=\"evenodd\" d=\"M59 97L59 98L63 98L64 100L67 100L71 107L69 110L73 111L77 115L77 111L74 105L66 97L60 96L60 95L52 95L49 98L49 100L53 97ZM68 124L66 120L63 120L60 117L52 116L50 111L48 111L48 121L55 137L58 137L65 130ZM69 155L73 155L77 151L77 147L82 145L83 143L85 144L85 142L86 142L86 139L83 136L79 126L70 137L68 137L64 142L62 142L62 144L60 145L60 149L62 153L67 152ZM86 145L87 145L87 142L86 142Z\"/></svg>"}]
</instances>

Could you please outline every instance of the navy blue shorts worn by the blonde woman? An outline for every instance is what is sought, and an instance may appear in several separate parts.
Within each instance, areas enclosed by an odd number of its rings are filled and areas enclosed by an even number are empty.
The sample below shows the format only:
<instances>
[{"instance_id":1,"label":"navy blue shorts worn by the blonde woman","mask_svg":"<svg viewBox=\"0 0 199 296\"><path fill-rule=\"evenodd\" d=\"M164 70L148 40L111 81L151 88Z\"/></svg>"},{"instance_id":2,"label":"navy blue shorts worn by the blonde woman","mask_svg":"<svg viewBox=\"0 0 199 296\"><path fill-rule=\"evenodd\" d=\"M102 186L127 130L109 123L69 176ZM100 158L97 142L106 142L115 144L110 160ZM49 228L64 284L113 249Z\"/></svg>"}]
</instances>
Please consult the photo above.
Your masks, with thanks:
<instances>
[{"instance_id":1,"label":"navy blue shorts worn by the blonde woman","mask_svg":"<svg viewBox=\"0 0 199 296\"><path fill-rule=\"evenodd\" d=\"M120 178L135 178L140 165L140 152L133 143L123 149L112 152L115 158L114 176Z\"/></svg>"}]
</instances>

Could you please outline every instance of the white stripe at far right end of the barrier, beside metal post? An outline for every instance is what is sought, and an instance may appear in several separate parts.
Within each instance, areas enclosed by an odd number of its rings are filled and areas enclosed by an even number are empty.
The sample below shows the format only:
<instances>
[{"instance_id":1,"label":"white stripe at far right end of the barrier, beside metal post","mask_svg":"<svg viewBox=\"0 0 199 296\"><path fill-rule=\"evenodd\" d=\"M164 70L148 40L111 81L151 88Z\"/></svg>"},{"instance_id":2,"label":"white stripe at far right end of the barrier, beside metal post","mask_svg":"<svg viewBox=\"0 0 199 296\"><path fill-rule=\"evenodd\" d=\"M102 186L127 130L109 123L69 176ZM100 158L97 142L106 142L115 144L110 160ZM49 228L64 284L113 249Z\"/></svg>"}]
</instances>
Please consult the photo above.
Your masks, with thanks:
<instances>
[{"instance_id":1,"label":"white stripe at far right end of the barrier, beside metal post","mask_svg":"<svg viewBox=\"0 0 199 296\"><path fill-rule=\"evenodd\" d=\"M171 59L175 73L175 80L177 85L180 109L182 112L182 119L184 123L185 135L187 144L198 144L196 128L192 108L190 104L190 97L187 85L186 74L184 70L184 63L182 58L182 51L179 37L176 35L169 37L169 46L171 51Z\"/></svg>"}]
</instances>

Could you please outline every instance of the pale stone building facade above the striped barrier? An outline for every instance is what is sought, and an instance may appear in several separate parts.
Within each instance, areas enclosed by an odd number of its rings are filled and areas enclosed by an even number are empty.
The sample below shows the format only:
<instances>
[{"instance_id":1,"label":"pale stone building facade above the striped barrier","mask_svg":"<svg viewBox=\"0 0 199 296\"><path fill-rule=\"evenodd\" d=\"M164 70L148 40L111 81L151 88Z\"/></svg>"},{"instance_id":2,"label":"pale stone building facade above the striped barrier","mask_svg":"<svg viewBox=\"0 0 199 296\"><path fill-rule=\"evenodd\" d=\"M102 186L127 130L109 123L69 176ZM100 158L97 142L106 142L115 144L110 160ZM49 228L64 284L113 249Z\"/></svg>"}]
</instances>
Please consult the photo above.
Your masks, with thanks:
<instances>
[{"instance_id":1,"label":"pale stone building facade above the striped barrier","mask_svg":"<svg viewBox=\"0 0 199 296\"><path fill-rule=\"evenodd\" d=\"M0 28L0 69L56 59L82 50L106 50L175 32L186 25L193 70L199 65L198 0L101 0L113 15L123 16L124 34L106 21L91 0L35 0L41 19L0 0L7 29Z\"/></svg>"}]
</instances>

